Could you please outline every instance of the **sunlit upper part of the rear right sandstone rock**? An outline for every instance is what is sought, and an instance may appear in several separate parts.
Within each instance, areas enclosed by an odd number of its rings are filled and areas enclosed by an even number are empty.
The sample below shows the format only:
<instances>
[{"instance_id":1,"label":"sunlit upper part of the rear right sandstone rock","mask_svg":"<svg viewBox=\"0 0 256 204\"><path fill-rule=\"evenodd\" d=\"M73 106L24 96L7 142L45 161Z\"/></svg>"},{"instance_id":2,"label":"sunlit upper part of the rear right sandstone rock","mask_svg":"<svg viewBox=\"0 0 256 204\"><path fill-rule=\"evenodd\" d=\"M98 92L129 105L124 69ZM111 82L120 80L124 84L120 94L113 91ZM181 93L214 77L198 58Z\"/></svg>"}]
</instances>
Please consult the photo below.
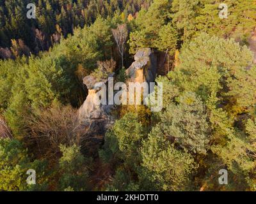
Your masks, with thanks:
<instances>
[{"instance_id":1,"label":"sunlit upper part of the rear right sandstone rock","mask_svg":"<svg viewBox=\"0 0 256 204\"><path fill-rule=\"evenodd\" d=\"M135 62L126 70L129 81L154 82L157 73L157 57L150 48L141 48L134 55Z\"/></svg>"}]
</instances>

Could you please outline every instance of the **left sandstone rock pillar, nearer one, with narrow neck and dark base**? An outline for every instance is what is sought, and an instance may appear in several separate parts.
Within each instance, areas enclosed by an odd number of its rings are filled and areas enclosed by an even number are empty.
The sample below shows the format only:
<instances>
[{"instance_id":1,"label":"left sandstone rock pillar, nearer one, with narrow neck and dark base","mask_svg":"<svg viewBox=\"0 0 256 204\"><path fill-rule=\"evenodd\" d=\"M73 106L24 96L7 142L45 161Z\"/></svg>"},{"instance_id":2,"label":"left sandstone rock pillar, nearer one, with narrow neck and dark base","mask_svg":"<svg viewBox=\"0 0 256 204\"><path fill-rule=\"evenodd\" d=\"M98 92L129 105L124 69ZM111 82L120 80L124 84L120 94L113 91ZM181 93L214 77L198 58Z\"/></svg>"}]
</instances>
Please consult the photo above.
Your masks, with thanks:
<instances>
[{"instance_id":1,"label":"left sandstone rock pillar, nearer one, with narrow neck and dark base","mask_svg":"<svg viewBox=\"0 0 256 204\"><path fill-rule=\"evenodd\" d=\"M109 77L113 77L113 73ZM111 109L113 105L102 105L99 103L97 92L100 87L96 87L97 82L108 85L108 78L97 80L88 76L84 78L84 84L88 88L88 96L78 112L79 128L83 128L83 140L81 141L83 152L96 155L100 145L104 141L106 130L113 124Z\"/></svg>"}]
</instances>

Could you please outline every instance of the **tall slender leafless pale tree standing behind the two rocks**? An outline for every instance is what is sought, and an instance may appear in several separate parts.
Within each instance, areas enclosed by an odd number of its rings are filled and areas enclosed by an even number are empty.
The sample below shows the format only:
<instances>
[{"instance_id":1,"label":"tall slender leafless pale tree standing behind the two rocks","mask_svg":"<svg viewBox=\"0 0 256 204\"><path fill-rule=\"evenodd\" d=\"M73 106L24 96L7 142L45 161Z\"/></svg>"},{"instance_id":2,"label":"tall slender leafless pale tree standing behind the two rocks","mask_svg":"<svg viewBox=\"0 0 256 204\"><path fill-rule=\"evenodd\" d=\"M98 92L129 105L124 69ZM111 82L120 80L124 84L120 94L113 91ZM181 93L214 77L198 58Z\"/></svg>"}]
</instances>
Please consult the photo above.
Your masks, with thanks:
<instances>
[{"instance_id":1,"label":"tall slender leafless pale tree standing behind the two rocks","mask_svg":"<svg viewBox=\"0 0 256 204\"><path fill-rule=\"evenodd\" d=\"M118 25L116 29L112 29L113 36L115 38L118 52L122 58L122 67L124 67L124 48L128 37L128 29L126 24Z\"/></svg>"}]
</instances>

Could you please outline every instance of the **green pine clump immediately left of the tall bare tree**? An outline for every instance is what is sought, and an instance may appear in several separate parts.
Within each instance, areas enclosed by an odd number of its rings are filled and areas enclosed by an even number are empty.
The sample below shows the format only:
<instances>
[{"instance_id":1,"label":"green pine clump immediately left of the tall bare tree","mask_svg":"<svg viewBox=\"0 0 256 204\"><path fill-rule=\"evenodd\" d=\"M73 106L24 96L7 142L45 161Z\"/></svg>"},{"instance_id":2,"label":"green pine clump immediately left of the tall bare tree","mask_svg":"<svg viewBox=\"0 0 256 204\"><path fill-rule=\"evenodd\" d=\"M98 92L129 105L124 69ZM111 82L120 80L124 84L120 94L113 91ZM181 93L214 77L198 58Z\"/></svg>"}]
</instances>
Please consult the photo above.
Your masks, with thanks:
<instances>
[{"instance_id":1,"label":"green pine clump immediately left of the tall bare tree","mask_svg":"<svg viewBox=\"0 0 256 204\"><path fill-rule=\"evenodd\" d=\"M70 61L92 70L100 59L110 59L111 45L111 29L107 20L97 18L92 26L75 29L74 36L64 40L56 51L61 49L61 52L67 53Z\"/></svg>"}]
</instances>

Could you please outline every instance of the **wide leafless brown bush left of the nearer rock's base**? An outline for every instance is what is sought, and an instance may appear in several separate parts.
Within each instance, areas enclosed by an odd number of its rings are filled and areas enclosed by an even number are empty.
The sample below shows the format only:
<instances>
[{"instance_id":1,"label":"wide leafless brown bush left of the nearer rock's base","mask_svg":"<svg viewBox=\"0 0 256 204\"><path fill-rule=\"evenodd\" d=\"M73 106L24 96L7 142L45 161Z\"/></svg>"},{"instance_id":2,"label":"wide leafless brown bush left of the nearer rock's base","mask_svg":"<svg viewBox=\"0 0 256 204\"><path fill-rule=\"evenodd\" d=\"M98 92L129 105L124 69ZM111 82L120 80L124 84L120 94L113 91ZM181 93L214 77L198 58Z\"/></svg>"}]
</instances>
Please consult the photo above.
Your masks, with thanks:
<instances>
[{"instance_id":1,"label":"wide leafless brown bush left of the nearer rock's base","mask_svg":"<svg viewBox=\"0 0 256 204\"><path fill-rule=\"evenodd\" d=\"M70 105L36 110L27 120L31 141L37 143L40 152L56 153L60 144L79 145L84 135L77 123L77 110Z\"/></svg>"}]
</instances>

